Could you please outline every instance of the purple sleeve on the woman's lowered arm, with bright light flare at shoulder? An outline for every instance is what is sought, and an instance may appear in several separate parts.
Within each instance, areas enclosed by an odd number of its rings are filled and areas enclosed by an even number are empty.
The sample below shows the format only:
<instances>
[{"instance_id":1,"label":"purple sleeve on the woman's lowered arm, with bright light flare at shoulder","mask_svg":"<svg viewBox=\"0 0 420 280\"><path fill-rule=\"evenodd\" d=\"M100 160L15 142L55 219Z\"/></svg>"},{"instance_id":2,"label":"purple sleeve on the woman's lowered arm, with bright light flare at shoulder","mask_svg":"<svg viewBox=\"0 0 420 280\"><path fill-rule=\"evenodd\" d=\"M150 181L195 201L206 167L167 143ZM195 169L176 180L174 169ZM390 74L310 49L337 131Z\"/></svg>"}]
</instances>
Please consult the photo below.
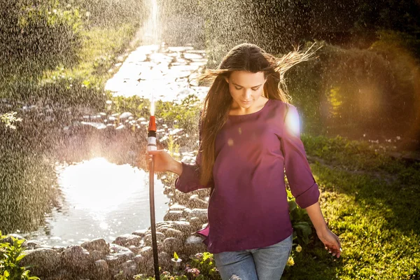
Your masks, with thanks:
<instances>
[{"instance_id":1,"label":"purple sleeve on the woman's lowered arm, with bright light flare at shoulder","mask_svg":"<svg viewBox=\"0 0 420 280\"><path fill-rule=\"evenodd\" d=\"M319 190L300 139L299 114L296 107L291 104L286 104L286 116L280 141L290 191L297 205L307 208L318 202Z\"/></svg>"}]
</instances>

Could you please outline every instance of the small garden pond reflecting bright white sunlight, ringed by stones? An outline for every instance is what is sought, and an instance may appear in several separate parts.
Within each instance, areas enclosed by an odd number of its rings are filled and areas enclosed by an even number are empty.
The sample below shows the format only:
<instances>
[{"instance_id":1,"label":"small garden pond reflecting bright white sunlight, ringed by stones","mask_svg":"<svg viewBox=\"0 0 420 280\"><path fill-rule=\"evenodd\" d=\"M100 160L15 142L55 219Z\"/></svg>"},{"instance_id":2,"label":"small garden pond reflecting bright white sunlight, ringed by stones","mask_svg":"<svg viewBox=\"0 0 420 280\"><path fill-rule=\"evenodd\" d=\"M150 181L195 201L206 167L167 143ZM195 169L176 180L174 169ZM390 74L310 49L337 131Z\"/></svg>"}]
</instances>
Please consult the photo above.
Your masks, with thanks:
<instances>
[{"instance_id":1,"label":"small garden pond reflecting bright white sunlight, ringed by stones","mask_svg":"<svg viewBox=\"0 0 420 280\"><path fill-rule=\"evenodd\" d=\"M101 237L111 242L126 233L151 225L149 174L131 165L116 165L105 158L56 167L62 191L59 207L45 214L45 225L24 234L51 246L78 244ZM155 175L156 177L156 175ZM155 219L163 221L169 198L155 178Z\"/></svg>"}]
</instances>

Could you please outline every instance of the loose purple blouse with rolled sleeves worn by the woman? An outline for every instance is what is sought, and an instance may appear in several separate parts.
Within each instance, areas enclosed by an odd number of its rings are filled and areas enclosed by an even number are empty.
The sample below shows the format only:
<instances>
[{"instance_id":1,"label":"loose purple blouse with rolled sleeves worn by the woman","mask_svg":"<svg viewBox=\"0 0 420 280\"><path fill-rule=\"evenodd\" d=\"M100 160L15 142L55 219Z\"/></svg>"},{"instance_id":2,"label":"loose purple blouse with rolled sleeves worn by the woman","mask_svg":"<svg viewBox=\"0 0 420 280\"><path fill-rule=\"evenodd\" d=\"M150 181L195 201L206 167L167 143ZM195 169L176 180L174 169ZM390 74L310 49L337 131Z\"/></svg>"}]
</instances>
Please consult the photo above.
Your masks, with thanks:
<instances>
[{"instance_id":1,"label":"loose purple blouse with rolled sleeves worn by the woman","mask_svg":"<svg viewBox=\"0 0 420 280\"><path fill-rule=\"evenodd\" d=\"M206 228L197 234L210 253L271 246L293 232L284 171L296 203L318 202L319 190L300 139L295 106L269 99L255 113L229 116L216 137L214 180L200 185L201 153L182 162L175 187L183 193L214 187Z\"/></svg>"}]
</instances>

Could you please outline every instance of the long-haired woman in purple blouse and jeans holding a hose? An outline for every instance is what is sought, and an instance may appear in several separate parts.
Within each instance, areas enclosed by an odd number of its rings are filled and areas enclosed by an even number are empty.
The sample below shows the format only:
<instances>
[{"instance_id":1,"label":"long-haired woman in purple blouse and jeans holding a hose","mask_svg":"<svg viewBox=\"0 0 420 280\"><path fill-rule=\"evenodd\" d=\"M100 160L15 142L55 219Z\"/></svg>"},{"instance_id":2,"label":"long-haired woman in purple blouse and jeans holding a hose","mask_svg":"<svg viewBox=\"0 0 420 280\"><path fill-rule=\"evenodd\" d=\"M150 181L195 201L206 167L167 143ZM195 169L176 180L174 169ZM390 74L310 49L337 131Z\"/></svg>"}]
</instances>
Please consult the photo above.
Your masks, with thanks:
<instances>
[{"instance_id":1,"label":"long-haired woman in purple blouse and jeans holding a hose","mask_svg":"<svg viewBox=\"0 0 420 280\"><path fill-rule=\"evenodd\" d=\"M310 49L309 49L310 50ZM165 151L155 171L174 172L183 193L211 188L206 228L197 233L214 254L222 279L280 279L292 248L284 170L296 203L307 210L325 248L339 258L339 238L327 227L319 190L300 140L299 115L283 83L307 52L276 58L251 43L232 48L215 70L200 121L195 165Z\"/></svg>"}]
</instances>

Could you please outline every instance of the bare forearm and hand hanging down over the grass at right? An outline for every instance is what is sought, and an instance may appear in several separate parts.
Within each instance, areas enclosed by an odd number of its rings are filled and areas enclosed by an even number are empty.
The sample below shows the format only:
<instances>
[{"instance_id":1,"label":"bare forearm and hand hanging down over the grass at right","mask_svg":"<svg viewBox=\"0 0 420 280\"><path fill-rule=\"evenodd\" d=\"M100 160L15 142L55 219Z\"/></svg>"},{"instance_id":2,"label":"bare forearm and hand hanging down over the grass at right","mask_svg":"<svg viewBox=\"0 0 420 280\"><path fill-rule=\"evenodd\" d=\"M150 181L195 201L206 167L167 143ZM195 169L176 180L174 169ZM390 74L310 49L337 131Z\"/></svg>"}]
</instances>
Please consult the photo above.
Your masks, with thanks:
<instances>
[{"instance_id":1,"label":"bare forearm and hand hanging down over the grass at right","mask_svg":"<svg viewBox=\"0 0 420 280\"><path fill-rule=\"evenodd\" d=\"M332 255L337 255L337 258L339 258L342 251L339 238L330 231L327 223L325 223L321 207L319 207L319 202L316 202L305 209L311 222L314 224L316 235L318 235L319 239L325 245L325 250L328 250Z\"/></svg>"}]
</instances>

